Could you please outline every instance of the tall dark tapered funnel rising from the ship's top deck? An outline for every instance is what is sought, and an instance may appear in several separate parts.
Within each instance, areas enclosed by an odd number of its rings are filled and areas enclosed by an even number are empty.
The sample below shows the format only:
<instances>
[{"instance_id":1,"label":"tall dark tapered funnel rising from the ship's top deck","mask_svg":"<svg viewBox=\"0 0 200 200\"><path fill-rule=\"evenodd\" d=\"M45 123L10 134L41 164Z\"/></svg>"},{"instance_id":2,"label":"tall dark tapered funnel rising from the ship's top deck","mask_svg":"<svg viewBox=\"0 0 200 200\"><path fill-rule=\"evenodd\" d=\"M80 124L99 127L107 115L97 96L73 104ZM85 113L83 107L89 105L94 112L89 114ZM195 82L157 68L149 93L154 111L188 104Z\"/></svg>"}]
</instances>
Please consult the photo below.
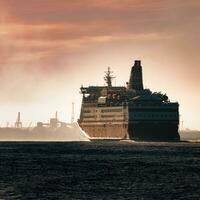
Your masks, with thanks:
<instances>
[{"instance_id":1,"label":"tall dark tapered funnel rising from the ship's top deck","mask_svg":"<svg viewBox=\"0 0 200 200\"><path fill-rule=\"evenodd\" d=\"M142 66L140 60L135 60L135 63L131 69L128 89L143 90Z\"/></svg>"}]
</instances>

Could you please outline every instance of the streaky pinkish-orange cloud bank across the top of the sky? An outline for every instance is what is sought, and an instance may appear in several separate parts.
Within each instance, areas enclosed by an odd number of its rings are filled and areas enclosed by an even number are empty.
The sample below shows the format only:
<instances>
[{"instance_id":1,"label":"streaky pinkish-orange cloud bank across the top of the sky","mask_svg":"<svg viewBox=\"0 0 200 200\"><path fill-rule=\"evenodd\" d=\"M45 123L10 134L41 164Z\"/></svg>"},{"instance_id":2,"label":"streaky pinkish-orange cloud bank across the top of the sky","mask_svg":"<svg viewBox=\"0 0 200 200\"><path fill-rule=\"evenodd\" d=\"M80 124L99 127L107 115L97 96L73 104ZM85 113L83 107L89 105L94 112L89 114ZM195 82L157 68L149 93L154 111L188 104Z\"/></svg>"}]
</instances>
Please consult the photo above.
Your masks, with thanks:
<instances>
[{"instance_id":1,"label":"streaky pinkish-orange cloud bank across the top of the sky","mask_svg":"<svg viewBox=\"0 0 200 200\"><path fill-rule=\"evenodd\" d=\"M0 63L6 67L32 61L40 68L99 43L173 42L199 32L197 1L2 0L0 5Z\"/></svg>"}]
</instances>

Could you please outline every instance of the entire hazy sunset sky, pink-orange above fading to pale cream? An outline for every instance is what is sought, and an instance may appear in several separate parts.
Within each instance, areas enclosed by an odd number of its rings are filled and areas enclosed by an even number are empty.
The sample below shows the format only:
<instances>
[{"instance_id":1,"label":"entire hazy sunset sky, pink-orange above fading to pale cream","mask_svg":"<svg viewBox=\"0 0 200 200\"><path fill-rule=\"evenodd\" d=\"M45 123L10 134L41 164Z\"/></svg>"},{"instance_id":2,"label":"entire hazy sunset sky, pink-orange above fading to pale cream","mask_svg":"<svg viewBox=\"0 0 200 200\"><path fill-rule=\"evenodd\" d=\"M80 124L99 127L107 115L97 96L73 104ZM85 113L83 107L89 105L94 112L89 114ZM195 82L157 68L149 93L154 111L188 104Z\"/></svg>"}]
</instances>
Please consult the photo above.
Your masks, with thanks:
<instances>
[{"instance_id":1,"label":"entire hazy sunset sky, pink-orange above fading to pale cream","mask_svg":"<svg viewBox=\"0 0 200 200\"><path fill-rule=\"evenodd\" d=\"M146 88L180 104L184 128L200 129L198 0L0 0L0 126L58 111L70 121L81 85L125 85L141 60Z\"/></svg>"}]
</instances>

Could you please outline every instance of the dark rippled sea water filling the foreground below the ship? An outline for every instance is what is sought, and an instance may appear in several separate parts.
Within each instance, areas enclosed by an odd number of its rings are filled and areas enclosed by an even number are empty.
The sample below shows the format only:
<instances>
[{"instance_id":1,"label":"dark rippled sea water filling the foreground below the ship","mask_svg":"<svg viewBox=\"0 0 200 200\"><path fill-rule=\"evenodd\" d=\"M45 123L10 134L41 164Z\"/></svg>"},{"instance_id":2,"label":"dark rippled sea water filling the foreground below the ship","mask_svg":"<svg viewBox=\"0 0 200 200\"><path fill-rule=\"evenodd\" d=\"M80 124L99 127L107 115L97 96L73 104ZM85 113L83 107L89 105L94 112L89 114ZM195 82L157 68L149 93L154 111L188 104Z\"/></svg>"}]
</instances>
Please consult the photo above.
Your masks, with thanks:
<instances>
[{"instance_id":1,"label":"dark rippled sea water filling the foreground below the ship","mask_svg":"<svg viewBox=\"0 0 200 200\"><path fill-rule=\"evenodd\" d=\"M200 199L200 144L0 143L0 199Z\"/></svg>"}]
</instances>

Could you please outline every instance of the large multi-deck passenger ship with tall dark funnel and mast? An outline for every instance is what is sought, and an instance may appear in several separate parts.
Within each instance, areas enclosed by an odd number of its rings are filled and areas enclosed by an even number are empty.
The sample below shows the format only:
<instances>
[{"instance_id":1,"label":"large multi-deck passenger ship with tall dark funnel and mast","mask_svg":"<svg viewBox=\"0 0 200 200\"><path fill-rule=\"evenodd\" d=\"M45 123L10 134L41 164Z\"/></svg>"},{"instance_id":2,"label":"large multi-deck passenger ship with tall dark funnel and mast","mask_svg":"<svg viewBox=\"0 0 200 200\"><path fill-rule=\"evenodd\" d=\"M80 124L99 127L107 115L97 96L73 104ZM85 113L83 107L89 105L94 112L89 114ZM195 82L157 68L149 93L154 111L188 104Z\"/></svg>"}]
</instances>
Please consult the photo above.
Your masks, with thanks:
<instances>
[{"instance_id":1,"label":"large multi-deck passenger ship with tall dark funnel and mast","mask_svg":"<svg viewBox=\"0 0 200 200\"><path fill-rule=\"evenodd\" d=\"M143 88L141 61L131 69L127 87L112 86L108 68L106 86L81 87L80 127L91 140L133 139L178 141L179 104L167 95Z\"/></svg>"}]
</instances>

